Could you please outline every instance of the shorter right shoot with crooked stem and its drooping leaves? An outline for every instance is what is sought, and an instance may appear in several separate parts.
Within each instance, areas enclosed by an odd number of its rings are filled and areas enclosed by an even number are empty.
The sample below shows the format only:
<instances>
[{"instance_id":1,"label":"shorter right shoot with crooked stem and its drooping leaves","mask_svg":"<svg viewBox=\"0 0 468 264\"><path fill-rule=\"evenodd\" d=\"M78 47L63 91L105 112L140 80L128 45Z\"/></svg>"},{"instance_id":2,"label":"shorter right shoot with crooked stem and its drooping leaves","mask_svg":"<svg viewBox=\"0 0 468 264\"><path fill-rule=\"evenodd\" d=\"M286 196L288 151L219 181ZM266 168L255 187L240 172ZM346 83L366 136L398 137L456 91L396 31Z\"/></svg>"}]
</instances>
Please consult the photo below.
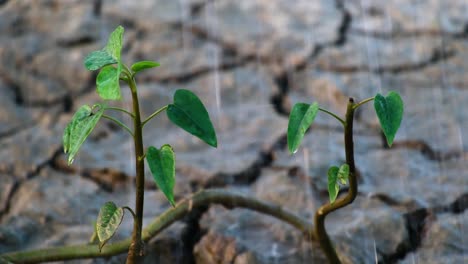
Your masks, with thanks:
<instances>
[{"instance_id":1,"label":"shorter right shoot with crooked stem and its drooping leaves","mask_svg":"<svg viewBox=\"0 0 468 264\"><path fill-rule=\"evenodd\" d=\"M397 133L403 118L403 101L400 95L394 91L389 92L387 96L377 94L376 96L365 99L359 103L355 103L354 99L350 98L344 119L328 110L320 108L318 103L297 103L294 105L289 116L287 141L288 149L291 153L295 153L297 151L304 134L314 122L319 111L331 115L344 127L346 163L342 164L340 167L332 166L328 170L328 193L330 202L321 206L315 212L314 218L315 238L318 240L322 250L332 264L341 262L325 230L325 217L329 213L351 204L356 198L358 186L356 180L356 166L354 163L354 111L358 107L372 100L374 101L375 113L379 119L387 144L391 147L395 134ZM346 196L337 199L340 185L346 185L348 182L348 193Z\"/></svg>"}]
</instances>

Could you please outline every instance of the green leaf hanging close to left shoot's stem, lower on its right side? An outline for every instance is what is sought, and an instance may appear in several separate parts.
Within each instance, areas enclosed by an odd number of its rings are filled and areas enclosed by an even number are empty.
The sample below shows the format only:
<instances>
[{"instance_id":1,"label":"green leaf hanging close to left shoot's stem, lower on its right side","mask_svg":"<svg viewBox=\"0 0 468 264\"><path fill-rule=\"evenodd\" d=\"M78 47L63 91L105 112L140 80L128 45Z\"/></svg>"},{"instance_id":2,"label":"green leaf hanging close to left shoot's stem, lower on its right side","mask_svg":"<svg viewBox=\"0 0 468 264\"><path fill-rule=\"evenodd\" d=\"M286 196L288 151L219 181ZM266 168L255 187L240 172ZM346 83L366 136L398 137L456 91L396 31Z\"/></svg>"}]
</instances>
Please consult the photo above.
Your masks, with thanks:
<instances>
[{"instance_id":1,"label":"green leaf hanging close to left shoot's stem, lower on its right side","mask_svg":"<svg viewBox=\"0 0 468 264\"><path fill-rule=\"evenodd\" d=\"M175 185L175 155L170 145L163 145L160 150L149 147L146 160L158 188L164 193L172 206Z\"/></svg>"}]
</instances>

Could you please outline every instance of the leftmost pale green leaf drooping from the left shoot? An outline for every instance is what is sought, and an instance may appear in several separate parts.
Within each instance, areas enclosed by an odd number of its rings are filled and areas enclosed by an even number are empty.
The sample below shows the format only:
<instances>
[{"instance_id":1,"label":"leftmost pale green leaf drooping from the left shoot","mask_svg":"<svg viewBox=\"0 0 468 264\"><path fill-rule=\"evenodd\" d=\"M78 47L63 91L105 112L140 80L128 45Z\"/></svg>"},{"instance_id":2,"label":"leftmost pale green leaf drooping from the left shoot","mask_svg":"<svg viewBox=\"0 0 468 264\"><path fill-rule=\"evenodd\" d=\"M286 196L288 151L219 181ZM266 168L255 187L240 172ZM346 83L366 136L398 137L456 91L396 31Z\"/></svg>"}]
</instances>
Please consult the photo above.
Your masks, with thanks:
<instances>
[{"instance_id":1,"label":"leftmost pale green leaf drooping from the left shoot","mask_svg":"<svg viewBox=\"0 0 468 264\"><path fill-rule=\"evenodd\" d=\"M73 163L76 153L104 113L104 106L98 104L94 107L99 108L96 113L93 113L93 109L87 105L80 107L65 127L62 138L63 150L68 154L69 165Z\"/></svg>"}]
</instances>

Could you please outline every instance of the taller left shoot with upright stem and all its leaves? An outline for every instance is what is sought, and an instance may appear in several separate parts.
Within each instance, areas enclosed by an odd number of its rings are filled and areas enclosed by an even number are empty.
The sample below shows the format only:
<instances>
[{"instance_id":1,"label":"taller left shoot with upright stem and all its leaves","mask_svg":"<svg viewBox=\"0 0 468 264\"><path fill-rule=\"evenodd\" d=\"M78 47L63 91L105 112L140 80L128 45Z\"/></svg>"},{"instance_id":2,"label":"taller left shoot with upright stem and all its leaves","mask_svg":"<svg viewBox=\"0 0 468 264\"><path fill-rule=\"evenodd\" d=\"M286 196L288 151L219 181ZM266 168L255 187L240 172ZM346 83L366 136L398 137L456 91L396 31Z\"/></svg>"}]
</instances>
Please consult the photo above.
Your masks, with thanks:
<instances>
[{"instance_id":1,"label":"taller left shoot with upright stem and all its leaves","mask_svg":"<svg viewBox=\"0 0 468 264\"><path fill-rule=\"evenodd\" d=\"M127 263L137 263L143 255L142 220L144 192L144 162L148 162L151 174L158 188L164 193L172 206L175 206L175 155L170 145L160 148L143 147L143 127L153 117L166 111L172 123L200 138L212 147L217 146L216 133L208 112L200 99L191 91L177 90L174 102L166 105L142 120L138 101L138 89L135 75L140 71L158 67L153 61L140 61L127 67L121 60L123 27L117 27L110 35L107 45L102 50L91 52L84 61L88 70L100 70L96 79L97 93L104 100L93 106L84 105L74 114L63 133L64 151L68 154L68 163L75 159L81 145L92 132L101 118L107 118L126 130L133 138L135 145L136 167L136 197L135 210L130 207L118 207L113 202L107 202L101 208L96 222L96 234L99 240L99 250L114 235L124 217L124 209L134 217L132 242L129 247ZM110 107L107 102L120 100L120 82L128 84L133 101L133 111L118 107ZM114 117L105 114L108 110L117 110L128 114L133 119L133 130Z\"/></svg>"}]
</instances>

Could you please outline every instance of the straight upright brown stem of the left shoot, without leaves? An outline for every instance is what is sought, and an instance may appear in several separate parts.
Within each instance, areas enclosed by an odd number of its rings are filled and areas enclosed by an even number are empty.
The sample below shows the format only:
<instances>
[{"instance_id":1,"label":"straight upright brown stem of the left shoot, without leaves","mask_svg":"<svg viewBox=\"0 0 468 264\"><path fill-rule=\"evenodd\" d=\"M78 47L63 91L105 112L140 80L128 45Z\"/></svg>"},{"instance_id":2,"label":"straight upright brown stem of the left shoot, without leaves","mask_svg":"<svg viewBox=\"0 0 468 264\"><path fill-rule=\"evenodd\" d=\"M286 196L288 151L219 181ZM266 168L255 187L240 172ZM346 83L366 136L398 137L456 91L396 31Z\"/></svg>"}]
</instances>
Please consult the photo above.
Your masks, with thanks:
<instances>
[{"instance_id":1,"label":"straight upright brown stem of the left shoot, without leaves","mask_svg":"<svg viewBox=\"0 0 468 264\"><path fill-rule=\"evenodd\" d=\"M141 159L144 155L143 149L143 133L141 125L140 105L138 102L138 93L135 79L129 80L130 90L132 92L133 101L133 131L135 143L135 181L136 181L136 194L135 194L135 220L133 221L132 243L128 249L127 264L140 263L144 251L143 242L141 240L141 229L143 226L143 197L145 186L145 160Z\"/></svg>"}]
</instances>

